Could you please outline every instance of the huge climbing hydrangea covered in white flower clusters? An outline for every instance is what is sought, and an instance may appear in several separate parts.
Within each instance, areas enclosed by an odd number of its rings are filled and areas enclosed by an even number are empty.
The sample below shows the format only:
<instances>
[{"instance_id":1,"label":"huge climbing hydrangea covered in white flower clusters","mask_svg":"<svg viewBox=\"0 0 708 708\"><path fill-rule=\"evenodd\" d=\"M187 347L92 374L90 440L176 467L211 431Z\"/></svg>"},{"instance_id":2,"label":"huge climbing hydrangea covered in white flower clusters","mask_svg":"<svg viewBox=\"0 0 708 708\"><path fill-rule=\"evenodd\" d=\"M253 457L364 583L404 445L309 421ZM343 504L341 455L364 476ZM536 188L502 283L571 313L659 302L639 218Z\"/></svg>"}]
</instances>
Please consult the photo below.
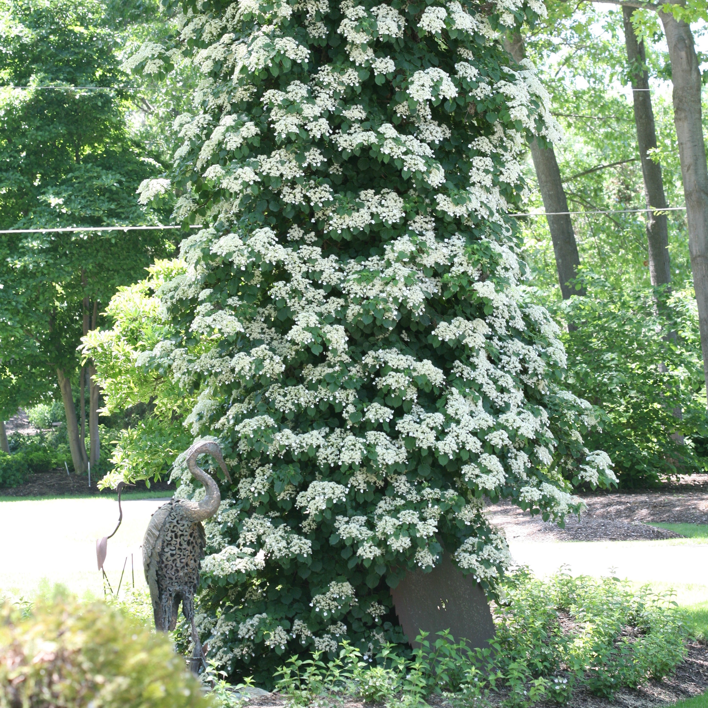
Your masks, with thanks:
<instances>
[{"instance_id":1,"label":"huge climbing hydrangea covered in white flower clusters","mask_svg":"<svg viewBox=\"0 0 708 708\"><path fill-rule=\"evenodd\" d=\"M174 336L144 353L198 392L195 436L234 478L207 524L209 656L272 675L283 653L401 641L390 588L443 552L494 592L509 561L483 497L544 518L607 486L593 411L527 304L509 212L518 155L556 126L500 32L538 0L186 0L172 48L204 78L180 115L183 274ZM142 185L144 198L162 193ZM180 472L180 461L176 464ZM199 493L183 474L179 493Z\"/></svg>"}]
</instances>

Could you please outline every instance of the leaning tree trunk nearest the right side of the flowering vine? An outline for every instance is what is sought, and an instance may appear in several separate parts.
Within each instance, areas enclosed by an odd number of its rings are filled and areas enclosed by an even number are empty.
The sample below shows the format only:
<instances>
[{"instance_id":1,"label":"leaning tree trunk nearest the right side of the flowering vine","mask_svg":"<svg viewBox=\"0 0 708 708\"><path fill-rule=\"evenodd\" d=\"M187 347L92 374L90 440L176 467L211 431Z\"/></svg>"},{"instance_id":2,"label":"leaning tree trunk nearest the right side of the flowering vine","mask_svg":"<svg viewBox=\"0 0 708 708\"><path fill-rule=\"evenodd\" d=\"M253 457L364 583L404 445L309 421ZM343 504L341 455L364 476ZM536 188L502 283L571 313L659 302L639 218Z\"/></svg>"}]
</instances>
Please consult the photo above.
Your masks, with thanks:
<instances>
[{"instance_id":1,"label":"leaning tree trunk nearest the right side of the flowering vine","mask_svg":"<svg viewBox=\"0 0 708 708\"><path fill-rule=\"evenodd\" d=\"M519 33L514 33L504 42L504 45L515 62L520 62L525 57L524 42ZM568 285L569 281L578 275L580 256L578 256L578 244L576 244L570 215L558 213L569 212L569 208L556 154L553 147L543 148L534 140L531 143L531 156L553 241L561 295L564 300L571 295L585 295L584 290L575 290Z\"/></svg>"}]
</instances>

